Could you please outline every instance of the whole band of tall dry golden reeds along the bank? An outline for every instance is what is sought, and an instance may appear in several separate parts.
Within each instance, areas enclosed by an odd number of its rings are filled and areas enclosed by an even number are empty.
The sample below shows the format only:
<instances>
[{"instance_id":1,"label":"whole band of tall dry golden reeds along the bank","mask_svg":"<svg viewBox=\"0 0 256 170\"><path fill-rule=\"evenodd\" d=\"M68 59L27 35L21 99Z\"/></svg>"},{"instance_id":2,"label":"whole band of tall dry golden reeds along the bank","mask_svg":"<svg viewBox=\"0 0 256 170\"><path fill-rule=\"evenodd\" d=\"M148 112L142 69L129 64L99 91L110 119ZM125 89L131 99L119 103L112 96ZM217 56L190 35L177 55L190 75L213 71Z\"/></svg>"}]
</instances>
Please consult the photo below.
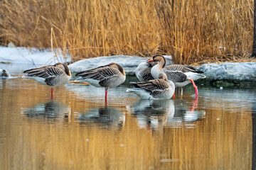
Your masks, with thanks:
<instances>
[{"instance_id":1,"label":"whole band of tall dry golden reeds along the bank","mask_svg":"<svg viewBox=\"0 0 256 170\"><path fill-rule=\"evenodd\" d=\"M1 44L47 48L53 35L53 47L73 60L160 52L185 64L245 57L252 46L252 0L4 0L0 6Z\"/></svg>"}]
</instances>

